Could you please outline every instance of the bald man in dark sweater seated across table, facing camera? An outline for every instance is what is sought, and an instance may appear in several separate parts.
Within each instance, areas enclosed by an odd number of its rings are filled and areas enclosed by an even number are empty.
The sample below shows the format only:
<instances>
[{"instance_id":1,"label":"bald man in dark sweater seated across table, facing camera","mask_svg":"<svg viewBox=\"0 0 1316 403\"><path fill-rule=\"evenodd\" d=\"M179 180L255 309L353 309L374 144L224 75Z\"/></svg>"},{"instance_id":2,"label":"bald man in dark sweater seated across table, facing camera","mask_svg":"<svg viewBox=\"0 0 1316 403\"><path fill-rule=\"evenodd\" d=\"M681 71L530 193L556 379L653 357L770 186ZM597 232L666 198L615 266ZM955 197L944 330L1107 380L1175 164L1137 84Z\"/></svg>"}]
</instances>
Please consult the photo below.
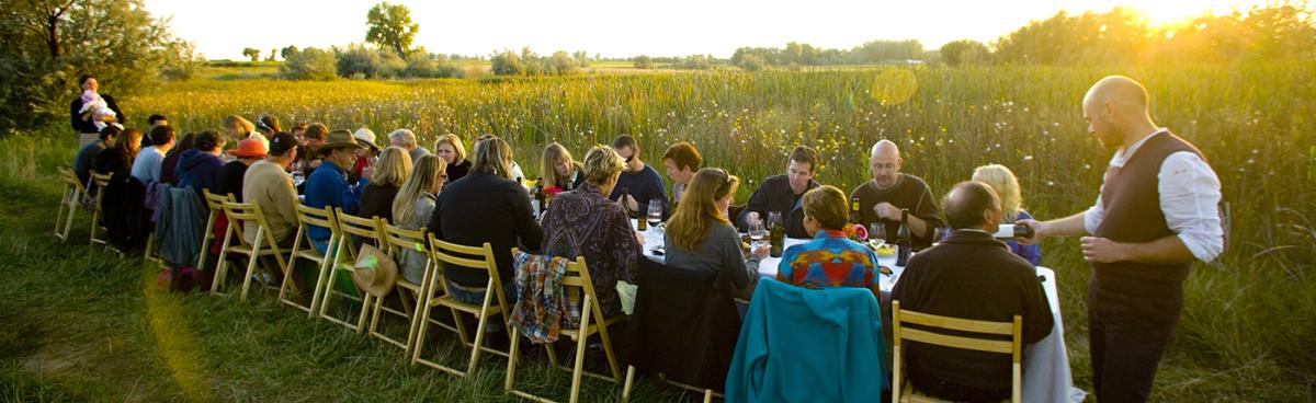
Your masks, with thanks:
<instances>
[{"instance_id":1,"label":"bald man in dark sweater seated across table, facing camera","mask_svg":"<svg viewBox=\"0 0 1316 403\"><path fill-rule=\"evenodd\" d=\"M873 180L854 188L850 200L859 200L859 223L865 228L882 223L888 240L895 240L900 230L900 211L909 210L909 235L913 245L923 248L932 244L932 230L945 223L932 189L923 179L900 172L903 167L904 159L896 143L880 140L873 144L869 152Z\"/></svg>"}]
</instances>

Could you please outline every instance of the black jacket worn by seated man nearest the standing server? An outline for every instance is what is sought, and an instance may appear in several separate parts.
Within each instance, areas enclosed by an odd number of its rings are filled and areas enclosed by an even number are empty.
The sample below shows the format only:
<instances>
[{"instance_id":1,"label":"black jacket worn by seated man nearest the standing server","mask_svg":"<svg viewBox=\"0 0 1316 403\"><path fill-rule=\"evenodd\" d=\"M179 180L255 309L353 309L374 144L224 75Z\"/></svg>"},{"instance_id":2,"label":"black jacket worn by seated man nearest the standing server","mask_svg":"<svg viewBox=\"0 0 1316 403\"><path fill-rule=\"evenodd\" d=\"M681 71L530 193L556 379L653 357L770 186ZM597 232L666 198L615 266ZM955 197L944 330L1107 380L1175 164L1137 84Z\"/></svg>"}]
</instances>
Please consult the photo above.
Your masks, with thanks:
<instances>
[{"instance_id":1,"label":"black jacket worn by seated man nearest the standing server","mask_svg":"<svg viewBox=\"0 0 1316 403\"><path fill-rule=\"evenodd\" d=\"M891 299L900 301L904 310L951 318L1012 322L1021 315L1025 344L1046 337L1053 326L1033 265L982 231L955 231L911 257ZM978 390L1009 389L1008 354L912 343L905 362L915 383L920 379L913 374L921 373Z\"/></svg>"}]
</instances>

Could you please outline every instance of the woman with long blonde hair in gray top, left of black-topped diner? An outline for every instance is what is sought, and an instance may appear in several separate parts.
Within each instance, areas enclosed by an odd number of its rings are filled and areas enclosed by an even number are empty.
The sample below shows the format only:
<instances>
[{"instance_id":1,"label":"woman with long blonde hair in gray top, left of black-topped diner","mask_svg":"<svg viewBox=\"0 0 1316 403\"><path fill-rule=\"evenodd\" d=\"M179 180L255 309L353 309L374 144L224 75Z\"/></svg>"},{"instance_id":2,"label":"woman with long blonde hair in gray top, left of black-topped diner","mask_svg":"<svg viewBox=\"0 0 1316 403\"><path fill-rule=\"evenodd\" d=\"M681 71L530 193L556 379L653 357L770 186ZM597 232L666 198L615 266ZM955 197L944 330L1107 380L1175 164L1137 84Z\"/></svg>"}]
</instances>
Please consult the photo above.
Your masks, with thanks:
<instances>
[{"instance_id":1,"label":"woman with long blonde hair in gray top, left of black-topped diner","mask_svg":"<svg viewBox=\"0 0 1316 403\"><path fill-rule=\"evenodd\" d=\"M412 168L411 179L393 198L392 219L404 230L424 230L434 213L438 192L443 189L447 163L436 155L425 155ZM403 278L420 284L425 277L425 255L416 251L403 251Z\"/></svg>"}]
</instances>

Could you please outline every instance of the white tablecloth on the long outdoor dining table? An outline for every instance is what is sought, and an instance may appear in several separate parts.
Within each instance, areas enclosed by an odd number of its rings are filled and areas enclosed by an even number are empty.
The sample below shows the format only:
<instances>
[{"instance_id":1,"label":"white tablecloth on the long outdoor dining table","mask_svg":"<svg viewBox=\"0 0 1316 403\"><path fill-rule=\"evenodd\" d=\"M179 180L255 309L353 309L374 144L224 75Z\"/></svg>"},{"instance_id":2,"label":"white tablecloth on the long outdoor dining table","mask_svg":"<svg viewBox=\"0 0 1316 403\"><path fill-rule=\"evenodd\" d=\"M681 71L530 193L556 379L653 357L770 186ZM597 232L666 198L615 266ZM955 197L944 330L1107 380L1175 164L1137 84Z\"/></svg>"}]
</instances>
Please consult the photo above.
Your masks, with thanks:
<instances>
[{"instance_id":1,"label":"white tablecloth on the long outdoor dining table","mask_svg":"<svg viewBox=\"0 0 1316 403\"><path fill-rule=\"evenodd\" d=\"M636 221L632 219L632 226ZM654 255L654 249L663 247L663 234L661 230L649 227L644 231L645 257L657 263L665 263L663 256ZM808 239L787 238L786 247L809 242ZM758 273L763 277L776 277L780 257L767 257L758 265ZM891 294L891 287L904 273L903 266L896 265L896 256L878 256L878 264L891 268L891 274L880 274L882 297ZM1055 270L1037 266L1037 276L1042 280L1042 290L1046 291L1046 301L1050 302L1051 315L1055 327L1045 339L1024 349L1024 402L1083 402L1087 392L1074 387L1074 374L1070 371L1067 349L1065 348L1065 324L1061 320L1061 299L1055 290Z\"/></svg>"}]
</instances>

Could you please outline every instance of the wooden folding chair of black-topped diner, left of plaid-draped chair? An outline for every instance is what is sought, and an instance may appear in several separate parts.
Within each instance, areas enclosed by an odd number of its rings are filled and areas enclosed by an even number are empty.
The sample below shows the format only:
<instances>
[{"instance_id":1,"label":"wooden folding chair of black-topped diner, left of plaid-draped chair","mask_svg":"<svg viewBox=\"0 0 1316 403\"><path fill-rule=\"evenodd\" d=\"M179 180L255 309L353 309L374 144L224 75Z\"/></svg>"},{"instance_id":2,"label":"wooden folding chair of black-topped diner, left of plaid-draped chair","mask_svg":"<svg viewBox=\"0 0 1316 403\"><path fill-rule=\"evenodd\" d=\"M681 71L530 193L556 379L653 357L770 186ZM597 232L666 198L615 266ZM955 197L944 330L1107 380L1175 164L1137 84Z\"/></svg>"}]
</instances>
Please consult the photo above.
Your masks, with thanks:
<instances>
[{"instance_id":1,"label":"wooden folding chair of black-topped diner, left of plaid-draped chair","mask_svg":"<svg viewBox=\"0 0 1316 403\"><path fill-rule=\"evenodd\" d=\"M447 371L450 374L465 377L475 371L475 365L479 364L480 352L488 352L491 354L497 354L508 357L508 352L497 350L494 348L484 347L484 326L492 320L491 318L501 318L504 323L507 322L505 312L508 311L507 298L503 295L503 281L497 276L497 263L494 260L494 247L490 243L484 243L480 247L467 247L454 243L447 243L434 238L434 234L429 234L430 244L430 263L436 265L442 265L443 268L462 266L468 269L486 270L490 273L490 280L484 285L484 301L480 305L465 303L457 301L451 297L451 290L447 287L447 281L440 282L442 276L432 276L429 278L429 286L425 290L424 307L421 307L421 322L420 329L416 335L416 348L412 349L412 365L424 364L434 369ZM454 256L455 255L455 256ZM471 256L471 257L459 257ZM443 290L442 297L438 297L438 290ZM450 368L447 365L440 364L437 361L430 361L421 358L425 350L425 335L429 331L429 314L430 308L442 306L447 307L453 312L453 320L457 326L458 337L461 337L462 344L471 348L471 360L466 366L466 370L459 370ZM474 315L478 320L475 326L475 343L467 341L466 327L462 324L459 312ZM508 329L511 331L511 329Z\"/></svg>"}]
</instances>

